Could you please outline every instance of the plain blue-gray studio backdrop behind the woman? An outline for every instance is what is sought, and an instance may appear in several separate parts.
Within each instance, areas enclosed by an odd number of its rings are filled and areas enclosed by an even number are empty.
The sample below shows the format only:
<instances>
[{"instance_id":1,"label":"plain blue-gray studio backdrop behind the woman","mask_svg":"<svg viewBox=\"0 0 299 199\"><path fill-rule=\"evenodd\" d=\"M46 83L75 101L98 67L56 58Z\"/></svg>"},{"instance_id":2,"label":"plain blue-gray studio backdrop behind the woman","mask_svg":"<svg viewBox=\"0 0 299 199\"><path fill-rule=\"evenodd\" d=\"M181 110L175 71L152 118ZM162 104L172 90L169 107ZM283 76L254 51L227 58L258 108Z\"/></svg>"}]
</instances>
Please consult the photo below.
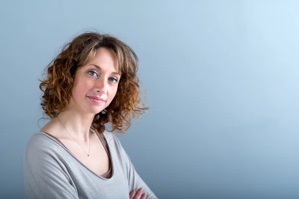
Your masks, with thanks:
<instances>
[{"instance_id":1,"label":"plain blue-gray studio backdrop behind the woman","mask_svg":"<svg viewBox=\"0 0 299 199\"><path fill-rule=\"evenodd\" d=\"M1 0L0 198L25 198L37 78L85 29L140 58L151 108L120 139L159 198L299 198L298 9L295 0Z\"/></svg>"}]
</instances>

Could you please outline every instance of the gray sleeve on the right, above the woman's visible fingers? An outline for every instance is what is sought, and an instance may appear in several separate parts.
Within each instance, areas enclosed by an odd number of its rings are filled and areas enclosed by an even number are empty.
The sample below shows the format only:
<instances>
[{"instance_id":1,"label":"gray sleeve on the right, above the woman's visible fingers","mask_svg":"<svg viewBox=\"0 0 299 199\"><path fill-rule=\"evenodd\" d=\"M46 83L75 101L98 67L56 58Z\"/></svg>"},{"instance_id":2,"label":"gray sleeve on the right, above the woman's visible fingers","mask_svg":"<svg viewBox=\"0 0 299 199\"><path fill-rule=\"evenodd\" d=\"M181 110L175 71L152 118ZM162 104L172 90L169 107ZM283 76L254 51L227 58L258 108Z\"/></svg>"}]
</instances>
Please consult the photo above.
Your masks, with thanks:
<instances>
[{"instance_id":1,"label":"gray sleeve on the right, above the woman's visible fingers","mask_svg":"<svg viewBox=\"0 0 299 199\"><path fill-rule=\"evenodd\" d=\"M120 148L121 148L123 156L124 156L124 159L126 161L130 192L132 190L136 190L137 191L139 188L143 188L144 189L144 193L147 193L147 195L148 195L147 199L157 199L157 197L149 189L148 185L142 180L142 178L136 172L136 170L135 170L135 168L133 166L133 163L131 162L130 157L126 153L125 149L122 147L119 139L117 137L116 137L116 139L118 140L118 143L120 145Z\"/></svg>"}]
</instances>

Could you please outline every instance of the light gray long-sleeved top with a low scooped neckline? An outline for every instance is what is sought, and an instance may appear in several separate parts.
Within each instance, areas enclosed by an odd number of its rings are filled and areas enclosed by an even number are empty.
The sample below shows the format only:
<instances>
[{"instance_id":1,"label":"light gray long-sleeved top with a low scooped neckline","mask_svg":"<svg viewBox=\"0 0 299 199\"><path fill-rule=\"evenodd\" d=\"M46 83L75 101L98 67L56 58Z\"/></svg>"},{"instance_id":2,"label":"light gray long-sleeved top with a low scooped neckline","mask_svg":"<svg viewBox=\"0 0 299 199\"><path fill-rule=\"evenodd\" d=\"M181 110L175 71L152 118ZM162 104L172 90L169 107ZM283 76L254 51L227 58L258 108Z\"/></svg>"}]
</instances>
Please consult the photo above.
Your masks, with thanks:
<instances>
[{"instance_id":1,"label":"light gray long-sleeved top with a low scooped neckline","mask_svg":"<svg viewBox=\"0 0 299 199\"><path fill-rule=\"evenodd\" d=\"M135 171L120 140L104 132L112 166L109 179L97 175L55 138L44 132L32 135L23 156L25 192L29 199L129 199L132 190L144 189L157 199Z\"/></svg>"}]
</instances>

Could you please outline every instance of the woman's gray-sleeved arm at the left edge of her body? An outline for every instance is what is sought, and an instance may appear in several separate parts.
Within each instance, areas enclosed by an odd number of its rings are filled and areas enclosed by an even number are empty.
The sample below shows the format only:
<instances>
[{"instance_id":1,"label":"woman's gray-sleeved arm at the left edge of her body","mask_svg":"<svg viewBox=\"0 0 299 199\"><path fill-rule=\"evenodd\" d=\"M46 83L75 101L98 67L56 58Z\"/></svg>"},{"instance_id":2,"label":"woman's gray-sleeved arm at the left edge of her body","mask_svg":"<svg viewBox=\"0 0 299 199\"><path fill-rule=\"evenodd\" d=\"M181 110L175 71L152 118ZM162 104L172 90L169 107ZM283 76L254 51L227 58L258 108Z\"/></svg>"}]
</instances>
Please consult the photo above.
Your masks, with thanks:
<instances>
[{"instance_id":1,"label":"woman's gray-sleeved arm at the left edge of her body","mask_svg":"<svg viewBox=\"0 0 299 199\"><path fill-rule=\"evenodd\" d=\"M44 141L47 142L47 141ZM28 199L79 199L64 165L49 147L28 144L23 177Z\"/></svg>"}]
</instances>

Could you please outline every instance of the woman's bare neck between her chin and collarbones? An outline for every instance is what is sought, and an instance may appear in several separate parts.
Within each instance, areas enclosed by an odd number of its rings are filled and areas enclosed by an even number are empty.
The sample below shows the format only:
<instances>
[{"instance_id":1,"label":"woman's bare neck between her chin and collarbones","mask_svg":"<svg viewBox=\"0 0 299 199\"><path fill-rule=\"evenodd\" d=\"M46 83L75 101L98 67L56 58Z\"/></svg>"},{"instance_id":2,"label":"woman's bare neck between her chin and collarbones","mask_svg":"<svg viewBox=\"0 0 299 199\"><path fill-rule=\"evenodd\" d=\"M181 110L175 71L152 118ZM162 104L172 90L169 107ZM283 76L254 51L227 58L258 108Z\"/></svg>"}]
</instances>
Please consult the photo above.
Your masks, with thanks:
<instances>
[{"instance_id":1,"label":"woman's bare neck between her chin and collarbones","mask_svg":"<svg viewBox=\"0 0 299 199\"><path fill-rule=\"evenodd\" d=\"M70 133L76 140L89 140L90 127L95 114L84 113L82 114L76 109L68 107L65 111L57 115L66 131ZM57 120L58 120L57 119ZM60 121L58 122L60 123ZM66 133L67 133L66 132Z\"/></svg>"}]
</instances>

